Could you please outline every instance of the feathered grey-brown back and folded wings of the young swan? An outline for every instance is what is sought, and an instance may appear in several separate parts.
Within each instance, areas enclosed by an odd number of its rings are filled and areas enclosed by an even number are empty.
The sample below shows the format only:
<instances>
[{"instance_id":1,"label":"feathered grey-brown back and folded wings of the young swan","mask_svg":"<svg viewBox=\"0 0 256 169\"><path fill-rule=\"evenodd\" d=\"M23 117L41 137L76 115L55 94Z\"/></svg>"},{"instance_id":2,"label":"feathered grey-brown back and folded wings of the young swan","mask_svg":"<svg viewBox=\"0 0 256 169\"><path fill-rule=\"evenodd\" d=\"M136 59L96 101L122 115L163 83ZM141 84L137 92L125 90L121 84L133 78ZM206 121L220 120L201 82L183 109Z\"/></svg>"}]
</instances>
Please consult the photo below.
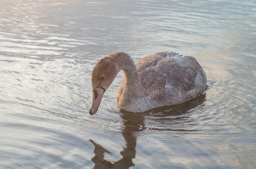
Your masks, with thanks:
<instances>
[{"instance_id":1,"label":"feathered grey-brown back and folded wings of the young swan","mask_svg":"<svg viewBox=\"0 0 256 169\"><path fill-rule=\"evenodd\" d=\"M141 91L152 106L179 104L205 91L206 75L192 56L160 52L136 64Z\"/></svg>"}]
</instances>

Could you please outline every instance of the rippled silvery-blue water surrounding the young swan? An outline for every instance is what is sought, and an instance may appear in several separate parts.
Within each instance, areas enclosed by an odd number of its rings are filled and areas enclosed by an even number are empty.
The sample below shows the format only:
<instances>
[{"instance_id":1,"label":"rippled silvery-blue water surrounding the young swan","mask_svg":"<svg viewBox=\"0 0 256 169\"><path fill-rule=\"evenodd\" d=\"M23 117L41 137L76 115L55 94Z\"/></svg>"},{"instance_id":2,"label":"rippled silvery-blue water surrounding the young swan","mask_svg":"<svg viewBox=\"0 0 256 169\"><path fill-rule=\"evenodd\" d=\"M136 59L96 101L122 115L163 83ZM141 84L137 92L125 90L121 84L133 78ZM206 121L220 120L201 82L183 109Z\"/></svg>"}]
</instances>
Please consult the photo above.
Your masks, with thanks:
<instances>
[{"instance_id":1,"label":"rippled silvery-blue water surrounding the young swan","mask_svg":"<svg viewBox=\"0 0 256 169\"><path fill-rule=\"evenodd\" d=\"M0 1L0 168L255 168L255 1ZM197 58L205 95L96 115L91 72L124 51Z\"/></svg>"}]
</instances>

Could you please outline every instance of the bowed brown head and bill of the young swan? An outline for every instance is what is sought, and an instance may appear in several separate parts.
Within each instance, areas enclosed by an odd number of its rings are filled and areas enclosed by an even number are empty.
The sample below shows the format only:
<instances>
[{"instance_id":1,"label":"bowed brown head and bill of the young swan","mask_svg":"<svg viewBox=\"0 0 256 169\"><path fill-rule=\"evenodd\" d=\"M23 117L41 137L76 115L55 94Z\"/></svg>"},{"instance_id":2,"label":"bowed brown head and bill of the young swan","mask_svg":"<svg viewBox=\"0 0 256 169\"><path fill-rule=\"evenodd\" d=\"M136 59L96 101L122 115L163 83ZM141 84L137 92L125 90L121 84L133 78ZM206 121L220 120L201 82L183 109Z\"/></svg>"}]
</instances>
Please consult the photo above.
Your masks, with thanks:
<instances>
[{"instance_id":1,"label":"bowed brown head and bill of the young swan","mask_svg":"<svg viewBox=\"0 0 256 169\"><path fill-rule=\"evenodd\" d=\"M107 88L114 81L119 72L118 64L115 64L111 56L103 57L95 65L92 73L93 101L90 105L89 113L95 114L101 103L102 96Z\"/></svg>"}]
</instances>

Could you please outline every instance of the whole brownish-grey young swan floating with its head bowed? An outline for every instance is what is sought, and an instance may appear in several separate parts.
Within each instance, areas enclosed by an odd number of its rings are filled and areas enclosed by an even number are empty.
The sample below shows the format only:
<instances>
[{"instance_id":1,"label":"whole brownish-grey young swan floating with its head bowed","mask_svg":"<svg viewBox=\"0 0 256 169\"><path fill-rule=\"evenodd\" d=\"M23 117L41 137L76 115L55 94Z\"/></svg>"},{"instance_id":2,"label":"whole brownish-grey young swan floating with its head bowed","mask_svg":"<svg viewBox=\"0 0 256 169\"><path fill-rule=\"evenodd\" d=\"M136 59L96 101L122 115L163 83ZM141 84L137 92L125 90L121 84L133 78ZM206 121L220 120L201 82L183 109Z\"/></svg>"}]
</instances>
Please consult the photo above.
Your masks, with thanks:
<instances>
[{"instance_id":1,"label":"whole brownish-grey young swan floating with its head bowed","mask_svg":"<svg viewBox=\"0 0 256 169\"><path fill-rule=\"evenodd\" d=\"M180 104L207 87L206 74L192 56L159 52L134 64L131 56L116 52L100 59L93 69L91 115L97 112L104 92L120 70L124 79L118 90L118 105L127 112Z\"/></svg>"}]
</instances>

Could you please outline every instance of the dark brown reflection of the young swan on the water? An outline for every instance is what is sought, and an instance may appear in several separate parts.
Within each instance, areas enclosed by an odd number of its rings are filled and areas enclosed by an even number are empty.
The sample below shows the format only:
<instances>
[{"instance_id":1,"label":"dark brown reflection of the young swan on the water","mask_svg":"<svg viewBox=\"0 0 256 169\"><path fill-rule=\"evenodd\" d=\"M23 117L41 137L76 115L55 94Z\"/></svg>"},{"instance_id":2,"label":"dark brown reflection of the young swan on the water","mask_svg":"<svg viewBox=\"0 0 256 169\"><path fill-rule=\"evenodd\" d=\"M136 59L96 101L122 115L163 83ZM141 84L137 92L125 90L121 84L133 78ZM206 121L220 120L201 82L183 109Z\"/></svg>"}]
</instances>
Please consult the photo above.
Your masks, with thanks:
<instances>
[{"instance_id":1,"label":"dark brown reflection of the young swan on the water","mask_svg":"<svg viewBox=\"0 0 256 169\"><path fill-rule=\"evenodd\" d=\"M177 124L177 121L183 121L184 118L188 118L184 115L188 114L189 110L196 108L196 106L199 105L203 106L203 103L206 100L205 97L206 94L203 94L179 105L157 108L145 113L131 113L121 110L120 117L123 120L124 126L122 135L126 145L122 152L120 152L122 158L116 162L107 161L104 159L105 153L110 152L103 148L103 146L95 143L93 140L89 140L94 145L95 155L92 158L92 162L95 163L94 168L129 168L134 166L132 159L136 157L136 134L145 130L145 117L153 117L155 118L155 121L176 121L175 124ZM175 118L168 118L170 116L175 116ZM168 126L166 130L170 130L170 128L171 127Z\"/></svg>"}]
</instances>

